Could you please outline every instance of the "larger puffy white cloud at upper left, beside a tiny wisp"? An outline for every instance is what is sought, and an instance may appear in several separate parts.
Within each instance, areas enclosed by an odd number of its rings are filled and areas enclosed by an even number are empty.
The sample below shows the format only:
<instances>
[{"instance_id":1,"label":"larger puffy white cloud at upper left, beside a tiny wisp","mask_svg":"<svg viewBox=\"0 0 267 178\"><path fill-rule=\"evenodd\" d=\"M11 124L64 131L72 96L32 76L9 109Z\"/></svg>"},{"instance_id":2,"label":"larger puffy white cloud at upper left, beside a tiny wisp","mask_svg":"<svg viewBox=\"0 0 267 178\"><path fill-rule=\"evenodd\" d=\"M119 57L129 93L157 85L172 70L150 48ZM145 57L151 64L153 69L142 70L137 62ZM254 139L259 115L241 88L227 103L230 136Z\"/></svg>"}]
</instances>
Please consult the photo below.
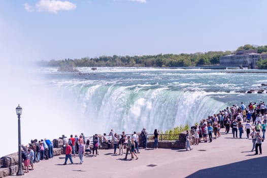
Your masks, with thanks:
<instances>
[{"instance_id":1,"label":"larger puffy white cloud at upper left, beside a tiny wisp","mask_svg":"<svg viewBox=\"0 0 267 178\"><path fill-rule=\"evenodd\" d=\"M76 9L76 5L68 1L41 0L36 4L38 12L57 13L57 11L70 11Z\"/></svg>"}]
</instances>

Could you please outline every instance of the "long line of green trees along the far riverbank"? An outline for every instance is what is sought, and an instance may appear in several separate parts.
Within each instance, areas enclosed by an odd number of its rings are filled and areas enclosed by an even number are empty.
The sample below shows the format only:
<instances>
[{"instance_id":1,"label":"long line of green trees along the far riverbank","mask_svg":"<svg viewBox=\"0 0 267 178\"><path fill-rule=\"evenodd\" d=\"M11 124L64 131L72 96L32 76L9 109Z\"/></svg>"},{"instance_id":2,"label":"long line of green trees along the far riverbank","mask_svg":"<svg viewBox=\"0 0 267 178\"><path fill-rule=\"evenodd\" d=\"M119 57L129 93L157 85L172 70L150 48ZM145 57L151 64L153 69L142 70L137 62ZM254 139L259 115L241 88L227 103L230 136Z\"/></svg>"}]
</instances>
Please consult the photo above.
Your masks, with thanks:
<instances>
[{"instance_id":1,"label":"long line of green trees along the far riverbank","mask_svg":"<svg viewBox=\"0 0 267 178\"><path fill-rule=\"evenodd\" d=\"M263 53L267 46L244 45L238 50L257 49ZM39 66L43 67L195 67L205 65L219 65L219 57L235 53L236 51L209 51L192 54L157 54L142 56L99 56L94 58L82 57L81 59L64 59L40 61Z\"/></svg>"}]
</instances>

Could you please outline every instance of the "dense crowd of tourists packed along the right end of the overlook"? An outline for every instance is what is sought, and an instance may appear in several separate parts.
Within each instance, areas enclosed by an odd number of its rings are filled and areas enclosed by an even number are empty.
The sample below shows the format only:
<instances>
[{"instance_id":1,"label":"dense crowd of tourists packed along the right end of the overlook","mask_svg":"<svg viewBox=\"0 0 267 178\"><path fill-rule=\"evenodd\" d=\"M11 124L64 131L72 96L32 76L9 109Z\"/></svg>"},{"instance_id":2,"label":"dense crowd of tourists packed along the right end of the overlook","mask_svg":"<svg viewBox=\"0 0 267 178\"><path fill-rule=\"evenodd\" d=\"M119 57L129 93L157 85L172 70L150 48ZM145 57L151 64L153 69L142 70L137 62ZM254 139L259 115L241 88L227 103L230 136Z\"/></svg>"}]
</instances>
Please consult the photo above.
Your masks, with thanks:
<instances>
[{"instance_id":1,"label":"dense crowd of tourists packed along the right end of the overlook","mask_svg":"<svg viewBox=\"0 0 267 178\"><path fill-rule=\"evenodd\" d=\"M229 134L231 128L233 138L241 139L244 132L246 132L246 138L251 136L253 143L251 152L255 150L255 155L257 155L259 148L259 154L262 154L261 143L265 139L267 123L266 111L267 106L263 101L258 104L252 104L251 102L247 107L243 102L241 102L240 106L232 105L230 108L226 107L224 110L219 111L218 114L201 120L199 125L197 124L192 128L194 144L198 145L199 142L208 142L208 140L212 142L213 139L219 138L223 131L225 134ZM192 149L189 132L186 135L186 142L186 150L189 151L189 149Z\"/></svg>"}]
</instances>

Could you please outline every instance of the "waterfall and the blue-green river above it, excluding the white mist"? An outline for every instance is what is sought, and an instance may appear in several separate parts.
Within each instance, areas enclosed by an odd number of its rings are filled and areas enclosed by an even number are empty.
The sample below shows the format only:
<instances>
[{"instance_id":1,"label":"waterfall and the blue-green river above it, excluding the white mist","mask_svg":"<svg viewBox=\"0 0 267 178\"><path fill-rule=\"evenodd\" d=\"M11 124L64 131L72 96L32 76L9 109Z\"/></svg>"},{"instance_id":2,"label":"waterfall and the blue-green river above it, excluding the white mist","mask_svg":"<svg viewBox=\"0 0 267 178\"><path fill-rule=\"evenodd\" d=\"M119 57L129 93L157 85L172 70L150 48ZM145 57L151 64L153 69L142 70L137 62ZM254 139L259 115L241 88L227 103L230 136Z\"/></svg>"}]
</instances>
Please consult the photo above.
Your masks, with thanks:
<instances>
[{"instance_id":1,"label":"waterfall and the blue-green river above it, excluding the white mist","mask_svg":"<svg viewBox=\"0 0 267 178\"><path fill-rule=\"evenodd\" d=\"M224 73L223 70L158 68L78 68L80 74L42 68L54 97L79 113L81 130L90 134L165 131L193 125L226 106L257 102L265 95L247 94L262 82L262 74ZM261 76L260 81L253 81Z\"/></svg>"}]
</instances>

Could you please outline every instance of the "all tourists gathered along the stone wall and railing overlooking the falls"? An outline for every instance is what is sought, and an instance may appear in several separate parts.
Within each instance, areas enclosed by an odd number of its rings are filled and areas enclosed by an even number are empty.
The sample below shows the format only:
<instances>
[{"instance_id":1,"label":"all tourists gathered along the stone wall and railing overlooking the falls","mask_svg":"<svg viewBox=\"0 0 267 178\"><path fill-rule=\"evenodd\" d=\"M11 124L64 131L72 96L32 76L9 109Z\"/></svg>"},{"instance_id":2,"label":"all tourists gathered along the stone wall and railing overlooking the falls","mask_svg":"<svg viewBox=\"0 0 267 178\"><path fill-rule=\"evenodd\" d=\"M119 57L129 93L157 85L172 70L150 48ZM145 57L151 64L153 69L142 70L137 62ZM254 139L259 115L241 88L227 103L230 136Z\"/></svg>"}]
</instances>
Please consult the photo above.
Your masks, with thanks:
<instances>
[{"instance_id":1,"label":"all tourists gathered along the stone wall and railing overlooking the falls","mask_svg":"<svg viewBox=\"0 0 267 178\"><path fill-rule=\"evenodd\" d=\"M194 144L198 145L199 142L212 142L213 139L220 137L221 133L229 134L231 128L231 134L233 138L242 138L244 131L246 132L246 138L251 136L252 138L252 150L255 155L262 154L261 143L265 139L266 123L267 123L267 110L264 102L249 103L246 107L242 102L240 106L232 105L230 108L226 107L224 110L219 111L218 114L208 116L192 127L191 132L186 132L186 150L192 150L190 145L191 136L193 134ZM245 125L243 123L246 123ZM251 124L252 123L252 124ZM252 127L253 126L253 127ZM245 128L244 128L245 127ZM225 129L225 130L222 130ZM121 135L117 134L113 129L107 135L103 134L102 145L107 149L111 147L114 149L113 154L118 154L117 149L119 150L119 155L125 153L124 159L127 159L127 156L130 154L130 159L133 160L134 157L137 160L137 154L140 153L139 145L140 139L142 137L143 148L147 148L147 139L148 133L146 128L143 128L141 134L138 135L137 132L133 132L131 135L126 135L125 132L122 132ZM159 131L154 130L154 144L153 149L157 149L158 146L158 136ZM83 157L85 154L92 156L99 155L98 147L100 146L99 136L97 134L93 135L92 141L89 138L86 139L83 133L78 135L70 135L70 138L62 135L59 137L63 141L63 146L65 150L65 161L63 165L67 164L68 159L71 164L73 164L72 157L76 155L79 156L80 163L82 164ZM41 160L48 160L53 158L53 143L49 139L41 140L31 140L29 145L22 145L22 159L24 163L25 172L29 170L34 170L34 163L38 163ZM30 167L30 169L29 169Z\"/></svg>"}]
</instances>

